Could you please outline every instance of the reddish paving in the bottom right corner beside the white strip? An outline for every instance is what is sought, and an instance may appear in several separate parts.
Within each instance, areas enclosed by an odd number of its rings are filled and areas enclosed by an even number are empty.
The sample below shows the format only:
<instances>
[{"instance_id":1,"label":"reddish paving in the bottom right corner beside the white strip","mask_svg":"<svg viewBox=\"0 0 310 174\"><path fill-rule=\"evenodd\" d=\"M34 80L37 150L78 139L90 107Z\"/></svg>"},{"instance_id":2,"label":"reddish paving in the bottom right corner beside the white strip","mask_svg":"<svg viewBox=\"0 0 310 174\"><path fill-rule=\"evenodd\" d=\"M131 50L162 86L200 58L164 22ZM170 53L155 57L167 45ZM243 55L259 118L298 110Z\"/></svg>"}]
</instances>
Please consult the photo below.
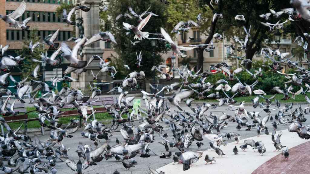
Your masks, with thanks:
<instances>
[{"instance_id":1,"label":"reddish paving in the bottom right corner beside the white strip","mask_svg":"<svg viewBox=\"0 0 310 174\"><path fill-rule=\"evenodd\" d=\"M269 153L272 153L272 151L270 151ZM290 155L287 161L281 153L278 154L277 156L269 159L261 166L259 166L254 172L252 172L252 174L310 173L310 141L290 148L289 154Z\"/></svg>"}]
</instances>

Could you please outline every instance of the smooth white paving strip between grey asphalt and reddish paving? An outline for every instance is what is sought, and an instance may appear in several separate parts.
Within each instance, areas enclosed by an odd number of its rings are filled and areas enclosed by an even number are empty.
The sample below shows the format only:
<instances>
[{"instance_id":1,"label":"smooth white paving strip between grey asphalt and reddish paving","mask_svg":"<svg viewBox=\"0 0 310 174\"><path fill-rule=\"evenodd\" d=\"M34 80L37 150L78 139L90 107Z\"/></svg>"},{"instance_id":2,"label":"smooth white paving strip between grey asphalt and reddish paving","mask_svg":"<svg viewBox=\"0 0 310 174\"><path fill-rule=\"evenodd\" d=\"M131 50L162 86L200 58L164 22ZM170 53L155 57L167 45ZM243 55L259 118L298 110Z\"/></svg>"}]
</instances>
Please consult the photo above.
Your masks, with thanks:
<instances>
[{"instance_id":1,"label":"smooth white paving strip between grey asphalt and reddish paving","mask_svg":"<svg viewBox=\"0 0 310 174\"><path fill-rule=\"evenodd\" d=\"M278 131L277 131L278 132ZM283 130L283 134L280 138L281 144L287 146L288 148L298 146L304 142L308 142L310 140L304 140L298 137L297 133L290 133L288 130ZM253 139L255 141L262 141L266 147L267 152L261 156L257 150L253 151L250 146L246 152L242 151L239 146L243 144L243 140ZM184 173L202 173L204 171L212 171L212 174L249 174L255 171L260 165L273 158L279 152L273 152L275 147L271 140L271 134L269 135L261 135L260 137L250 137L241 140L238 144L235 142L228 143L227 146L221 146L220 149L223 150L223 157L218 157L215 151L212 149L203 151L203 156L201 159L197 161L191 168L187 171L183 171L182 164L172 163L167 164L163 167L157 169L157 171L163 171L170 174L184 174ZM234 155L232 149L234 146L237 146L239 153ZM216 162L212 164L205 165L205 155L208 154L210 157L215 157Z\"/></svg>"}]
</instances>

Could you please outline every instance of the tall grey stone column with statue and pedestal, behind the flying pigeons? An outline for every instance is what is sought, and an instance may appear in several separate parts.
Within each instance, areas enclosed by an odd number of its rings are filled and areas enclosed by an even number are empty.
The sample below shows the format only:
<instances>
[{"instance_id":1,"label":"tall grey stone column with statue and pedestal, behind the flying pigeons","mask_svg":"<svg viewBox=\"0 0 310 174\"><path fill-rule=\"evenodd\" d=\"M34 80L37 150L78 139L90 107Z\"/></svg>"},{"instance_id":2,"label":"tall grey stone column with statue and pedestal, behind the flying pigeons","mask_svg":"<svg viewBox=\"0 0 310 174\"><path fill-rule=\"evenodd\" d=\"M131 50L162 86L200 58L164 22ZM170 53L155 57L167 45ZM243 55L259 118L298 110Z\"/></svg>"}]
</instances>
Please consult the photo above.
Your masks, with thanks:
<instances>
[{"instance_id":1,"label":"tall grey stone column with statue and pedestal, behind the flying pigeons","mask_svg":"<svg viewBox=\"0 0 310 174\"><path fill-rule=\"evenodd\" d=\"M84 26L84 34L87 38L91 38L94 34L100 32L100 20L99 20L99 5L101 3L101 0L76 0L76 5L86 5L87 7L90 7L91 10L88 12L79 10L79 13L76 15L77 18L83 18L83 26ZM76 28L76 37L78 37L79 32L78 28ZM102 57L103 50L100 48L100 43L95 42L91 45L87 45L82 49L83 57L81 60L89 60L93 54L99 55ZM99 72L99 65L98 61L93 61L88 67L87 72L82 73L79 77L77 77L74 73L71 73L71 76L73 78L78 79L77 82L71 82L71 86L73 88L80 88L80 89L88 89L88 82L93 81L93 76L91 75L92 70L95 74ZM101 80L106 80L106 74L102 73L98 75L98 78Z\"/></svg>"}]
</instances>

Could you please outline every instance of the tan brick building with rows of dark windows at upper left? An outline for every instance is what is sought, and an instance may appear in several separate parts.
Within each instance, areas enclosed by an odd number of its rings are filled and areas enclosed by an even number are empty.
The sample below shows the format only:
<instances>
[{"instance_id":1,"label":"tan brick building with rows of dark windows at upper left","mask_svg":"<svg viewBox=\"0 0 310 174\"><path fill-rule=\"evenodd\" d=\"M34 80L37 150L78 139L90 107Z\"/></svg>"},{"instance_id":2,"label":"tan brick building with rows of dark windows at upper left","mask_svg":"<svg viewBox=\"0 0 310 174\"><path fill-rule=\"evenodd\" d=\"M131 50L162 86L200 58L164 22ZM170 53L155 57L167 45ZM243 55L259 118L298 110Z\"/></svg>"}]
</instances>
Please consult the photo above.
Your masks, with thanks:
<instances>
[{"instance_id":1,"label":"tan brick building with rows of dark windows at upper left","mask_svg":"<svg viewBox=\"0 0 310 174\"><path fill-rule=\"evenodd\" d=\"M58 42L66 41L73 36L73 26L68 25L62 22L62 14L56 15L56 8L62 3L71 4L71 0L25 0L26 1L26 10L22 16L17 20L23 21L24 19L31 17L28 25L30 30L35 30L38 32L40 40L43 40L50 34L53 34L58 28L60 32L58 35ZM0 0L0 14L10 14L15 11L19 6L22 0ZM0 20L0 45L10 45L9 50L6 52L7 55L18 56L16 50L20 50L23 47L28 47L24 45L23 40L27 40L30 37L30 31L22 31L20 28L9 28L9 24L5 23L3 20ZM74 42L67 42L67 44L72 47ZM46 46L48 48L48 46ZM53 51L48 51L50 56ZM51 78L57 76L62 77L62 73L65 68L68 66L66 60L64 63L57 68L50 68L48 65L42 64L42 69L44 71L45 79L41 79L50 83ZM42 70L41 69L41 70ZM11 73L15 80L19 81L21 79L21 74L19 69L14 68L14 71ZM12 83L12 82L11 82ZM58 89L61 89L61 83L58 85ZM13 91L15 89L12 89Z\"/></svg>"}]
</instances>

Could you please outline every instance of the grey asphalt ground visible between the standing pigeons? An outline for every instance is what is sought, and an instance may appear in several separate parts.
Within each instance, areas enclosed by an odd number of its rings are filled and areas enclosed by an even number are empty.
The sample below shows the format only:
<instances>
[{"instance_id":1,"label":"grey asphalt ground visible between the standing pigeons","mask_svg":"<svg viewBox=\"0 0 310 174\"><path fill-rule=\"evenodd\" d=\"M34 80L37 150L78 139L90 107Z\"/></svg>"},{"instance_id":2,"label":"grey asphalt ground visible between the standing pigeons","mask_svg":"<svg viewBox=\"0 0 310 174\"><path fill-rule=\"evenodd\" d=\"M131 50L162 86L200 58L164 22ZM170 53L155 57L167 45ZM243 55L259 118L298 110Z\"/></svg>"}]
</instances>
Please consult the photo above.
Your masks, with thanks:
<instances>
[{"instance_id":1,"label":"grey asphalt ground visible between the standing pigeons","mask_svg":"<svg viewBox=\"0 0 310 174\"><path fill-rule=\"evenodd\" d=\"M141 102L141 104L142 104L142 108L145 108L144 102ZM170 105L170 103L169 103L169 106L171 107L170 108L171 111L177 110L177 108ZM184 108L185 111L191 112L191 110L185 104L181 104L180 106L182 108ZM306 106L307 105L302 105L303 108ZM284 107L284 104L281 104L281 108L282 107ZM294 108L295 107L298 107L298 106L295 104ZM217 107L215 109L209 108L209 110L206 111L205 114L210 115L210 112L212 112L214 114L221 115L222 112L225 112L227 114L234 115L233 111L228 111L227 109L228 109L228 106ZM245 109L248 111L262 111L261 108L257 107L256 109L254 109L252 106L245 106ZM271 115L274 117L276 112L277 111L272 111ZM260 115L262 116L261 117L261 119L262 119L266 115L266 113L264 113L264 111L262 111ZM308 116L306 116L306 118L307 117ZM251 121L251 119L249 119L249 121ZM271 123L272 123L271 121L268 121L268 123L267 123L267 127L269 127L270 132L272 132L272 129L273 129ZM165 123L160 123L160 124L163 125L164 127L168 126L168 125L165 125ZM305 124L310 124L310 120L308 119ZM139 122L135 121L134 125L138 126ZM236 133L241 134L241 139L253 137L253 136L257 135L256 128L252 128L251 131L245 131L246 127L242 127L241 130L238 131L236 129L236 126L237 126L236 123L228 122L227 128L224 128L221 132L228 132L229 133L231 131L234 131ZM122 127L122 126L120 126L120 127ZM278 125L277 130L287 129L287 127L288 127L288 125ZM78 155L75 151L78 150L77 147L78 147L79 142L82 142L83 144L87 144L87 145L92 145L94 147L93 141L89 141L87 138L83 138L81 136L82 129L83 128L78 130L76 133L72 134L74 136L72 138L66 138L65 137L64 142L63 142L64 145L66 146L66 148L70 148L70 151L68 152L69 158L76 161L76 162L78 161ZM216 130L213 130L213 132L216 133ZM166 131L163 133L167 133L169 136L168 139L171 139L171 137L172 137L171 131ZM36 133L36 134L41 141L45 141L45 140L49 139L49 132L46 132L45 136L42 136L40 133ZM262 133L262 134L264 134L264 133ZM35 135L34 133L29 134L30 137L33 137L34 135ZM154 137L155 137L155 141L150 144L149 148L151 148L156 154L160 155L161 153L165 152L165 148L164 148L164 146L162 146L161 144L158 143L159 141L162 141L161 138L158 136L158 133L155 133ZM116 138L118 138L120 141L124 141L119 132L114 132L113 136L110 137L111 141L108 142L110 144L110 146L115 145ZM226 140L227 138L224 138L224 139ZM233 140L227 140L226 142L229 143L232 141ZM200 150L206 150L206 149L210 148L209 140L207 140L205 138L202 142L204 143L204 145L202 146L202 148ZM101 143L104 144L105 141L101 141ZM197 148L197 145L195 143L196 143L196 141L193 142L193 145L190 146L187 149L187 151L197 151L198 148ZM56 146L58 146L58 145L56 145ZM170 148L170 151L172 151L172 154L174 154L176 151L178 151L178 149ZM131 174L131 173L145 174L145 173L148 173L148 167L152 167L153 169L157 169L157 168L160 168L160 167L162 167L168 163L173 162L172 158L160 159L159 156L155 156L155 155L151 155L151 157L149 157L149 158L140 158L139 155L137 155L135 157L135 160L138 162L138 164L136 164L135 167L131 167L129 171L128 170L125 171L125 168L123 167L122 162L118 162L115 160L115 158L113 158L113 159L109 159L109 160L104 159L101 162L97 163L96 166L88 167L86 170L83 171L83 173L86 173L86 174L88 174L88 173L89 174L96 174L96 173L112 174L114 172L114 170L117 169L119 172L125 173L125 174ZM179 167L183 167L183 165L179 165ZM58 173L61 173L61 174L73 173L73 171L69 167L66 166L65 162L57 162L55 168L58 170Z\"/></svg>"}]
</instances>

